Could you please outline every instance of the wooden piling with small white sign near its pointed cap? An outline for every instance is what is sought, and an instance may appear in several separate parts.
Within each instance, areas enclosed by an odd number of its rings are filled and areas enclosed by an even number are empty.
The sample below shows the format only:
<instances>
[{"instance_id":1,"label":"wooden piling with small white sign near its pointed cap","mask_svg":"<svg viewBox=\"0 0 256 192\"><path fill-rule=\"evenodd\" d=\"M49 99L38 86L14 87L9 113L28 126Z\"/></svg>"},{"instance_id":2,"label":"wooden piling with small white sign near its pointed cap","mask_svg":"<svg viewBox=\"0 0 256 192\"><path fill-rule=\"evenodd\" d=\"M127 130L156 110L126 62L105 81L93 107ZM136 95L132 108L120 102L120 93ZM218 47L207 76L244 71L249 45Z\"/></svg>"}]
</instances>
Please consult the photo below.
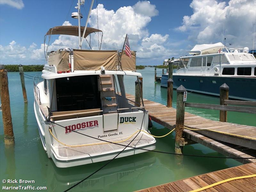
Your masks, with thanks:
<instances>
[{"instance_id":1,"label":"wooden piling with small white sign near its pointed cap","mask_svg":"<svg viewBox=\"0 0 256 192\"><path fill-rule=\"evenodd\" d=\"M180 85L177 88L177 110L176 110L176 125L175 125L175 153L182 154L183 146L180 146L180 140L183 139L182 132L184 127L185 117L185 101L183 101L184 92L187 90Z\"/></svg>"}]
</instances>

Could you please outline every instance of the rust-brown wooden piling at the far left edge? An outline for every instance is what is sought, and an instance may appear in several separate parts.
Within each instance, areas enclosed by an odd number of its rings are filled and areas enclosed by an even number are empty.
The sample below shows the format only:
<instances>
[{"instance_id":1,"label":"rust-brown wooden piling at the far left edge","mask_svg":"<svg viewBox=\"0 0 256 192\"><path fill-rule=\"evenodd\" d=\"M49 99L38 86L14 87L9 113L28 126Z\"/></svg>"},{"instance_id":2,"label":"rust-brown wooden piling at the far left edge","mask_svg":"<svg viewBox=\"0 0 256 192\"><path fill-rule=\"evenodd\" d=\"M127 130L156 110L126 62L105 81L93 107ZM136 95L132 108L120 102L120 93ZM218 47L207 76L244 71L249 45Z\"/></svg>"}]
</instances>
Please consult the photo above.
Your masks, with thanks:
<instances>
[{"instance_id":1,"label":"rust-brown wooden piling at the far left edge","mask_svg":"<svg viewBox=\"0 0 256 192\"><path fill-rule=\"evenodd\" d=\"M0 98L2 103L2 116L4 124L4 143L9 145L14 143L14 135L12 130L8 76L5 69L0 69Z\"/></svg>"}]
</instances>

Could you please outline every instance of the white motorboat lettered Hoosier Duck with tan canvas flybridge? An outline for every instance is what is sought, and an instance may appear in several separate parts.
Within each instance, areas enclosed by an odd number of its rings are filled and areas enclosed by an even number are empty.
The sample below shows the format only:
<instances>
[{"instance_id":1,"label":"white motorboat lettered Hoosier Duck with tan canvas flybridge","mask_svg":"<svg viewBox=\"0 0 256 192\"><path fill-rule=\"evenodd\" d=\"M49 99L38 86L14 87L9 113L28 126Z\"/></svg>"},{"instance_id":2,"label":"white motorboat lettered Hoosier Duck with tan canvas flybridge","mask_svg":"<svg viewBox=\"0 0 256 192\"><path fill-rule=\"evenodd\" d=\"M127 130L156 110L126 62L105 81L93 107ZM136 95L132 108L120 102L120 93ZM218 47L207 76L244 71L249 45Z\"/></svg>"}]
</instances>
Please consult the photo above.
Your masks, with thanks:
<instances>
[{"instance_id":1,"label":"white motorboat lettered Hoosier Duck with tan canvas flybridge","mask_svg":"<svg viewBox=\"0 0 256 192\"><path fill-rule=\"evenodd\" d=\"M57 26L44 39L55 34L80 39L80 34L85 38L95 32L102 33L89 27ZM136 52L128 57L118 50L64 48L45 55L43 81L34 80L34 110L44 150L57 167L155 149L156 140L147 132L148 111L143 101L142 106L135 106L124 89L124 76L137 80L141 76L136 72Z\"/></svg>"}]
</instances>

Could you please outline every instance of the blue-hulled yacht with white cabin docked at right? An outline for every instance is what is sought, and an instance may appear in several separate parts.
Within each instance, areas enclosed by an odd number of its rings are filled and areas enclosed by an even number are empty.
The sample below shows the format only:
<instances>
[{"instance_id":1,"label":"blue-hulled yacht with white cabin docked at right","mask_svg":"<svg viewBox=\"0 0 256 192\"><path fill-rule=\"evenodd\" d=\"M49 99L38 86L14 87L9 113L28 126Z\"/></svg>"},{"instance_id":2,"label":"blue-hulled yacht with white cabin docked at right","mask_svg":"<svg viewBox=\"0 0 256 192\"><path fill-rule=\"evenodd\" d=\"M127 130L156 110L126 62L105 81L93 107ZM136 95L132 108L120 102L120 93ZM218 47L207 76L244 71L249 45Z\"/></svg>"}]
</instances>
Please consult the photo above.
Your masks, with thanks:
<instances>
[{"instance_id":1,"label":"blue-hulled yacht with white cabin docked at right","mask_svg":"<svg viewBox=\"0 0 256 192\"><path fill-rule=\"evenodd\" d=\"M222 43L196 45L191 56L180 57L173 73L173 88L183 85L188 91L220 95L220 86L229 86L229 98L256 101L256 60L248 48L228 48ZM167 87L168 74L161 87Z\"/></svg>"}]
</instances>

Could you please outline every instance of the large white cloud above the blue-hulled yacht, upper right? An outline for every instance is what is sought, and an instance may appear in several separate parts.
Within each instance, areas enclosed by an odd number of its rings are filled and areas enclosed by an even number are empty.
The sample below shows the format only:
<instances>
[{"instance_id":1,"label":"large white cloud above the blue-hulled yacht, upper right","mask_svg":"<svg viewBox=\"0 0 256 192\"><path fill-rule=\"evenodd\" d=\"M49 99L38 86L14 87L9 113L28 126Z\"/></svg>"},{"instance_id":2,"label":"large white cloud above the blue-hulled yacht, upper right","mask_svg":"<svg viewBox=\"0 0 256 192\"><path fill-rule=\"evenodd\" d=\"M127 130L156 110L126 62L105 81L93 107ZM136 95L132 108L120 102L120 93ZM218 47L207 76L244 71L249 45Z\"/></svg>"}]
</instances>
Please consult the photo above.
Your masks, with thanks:
<instances>
[{"instance_id":1,"label":"large white cloud above the blue-hulled yacht, upper right","mask_svg":"<svg viewBox=\"0 0 256 192\"><path fill-rule=\"evenodd\" d=\"M194 0L190 7L194 13L184 16L182 25L177 29L188 32L188 39L192 42L199 44L222 42L224 23L224 37L227 38L227 43L232 43L232 46L236 47L252 48L256 22L255 0L231 0L228 5L213 0Z\"/></svg>"}]
</instances>

